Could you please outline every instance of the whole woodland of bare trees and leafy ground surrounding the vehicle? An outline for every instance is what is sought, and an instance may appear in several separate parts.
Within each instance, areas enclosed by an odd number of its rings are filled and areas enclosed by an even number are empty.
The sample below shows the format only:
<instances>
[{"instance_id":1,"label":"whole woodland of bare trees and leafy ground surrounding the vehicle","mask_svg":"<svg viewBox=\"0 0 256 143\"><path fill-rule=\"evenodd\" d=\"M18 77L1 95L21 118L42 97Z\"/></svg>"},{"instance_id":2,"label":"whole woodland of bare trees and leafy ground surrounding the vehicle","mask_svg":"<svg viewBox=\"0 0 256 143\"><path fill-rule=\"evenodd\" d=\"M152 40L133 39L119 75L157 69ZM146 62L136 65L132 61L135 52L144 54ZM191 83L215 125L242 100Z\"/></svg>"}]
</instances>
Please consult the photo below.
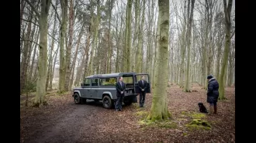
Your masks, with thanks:
<instances>
[{"instance_id":1,"label":"whole woodland of bare trees and leafy ground surrounding the vehicle","mask_svg":"<svg viewBox=\"0 0 256 143\"><path fill-rule=\"evenodd\" d=\"M235 142L235 1L20 0L21 142ZM145 107L71 96L85 77L150 75ZM199 112L218 81L218 114ZM138 97L139 100L139 97Z\"/></svg>"}]
</instances>

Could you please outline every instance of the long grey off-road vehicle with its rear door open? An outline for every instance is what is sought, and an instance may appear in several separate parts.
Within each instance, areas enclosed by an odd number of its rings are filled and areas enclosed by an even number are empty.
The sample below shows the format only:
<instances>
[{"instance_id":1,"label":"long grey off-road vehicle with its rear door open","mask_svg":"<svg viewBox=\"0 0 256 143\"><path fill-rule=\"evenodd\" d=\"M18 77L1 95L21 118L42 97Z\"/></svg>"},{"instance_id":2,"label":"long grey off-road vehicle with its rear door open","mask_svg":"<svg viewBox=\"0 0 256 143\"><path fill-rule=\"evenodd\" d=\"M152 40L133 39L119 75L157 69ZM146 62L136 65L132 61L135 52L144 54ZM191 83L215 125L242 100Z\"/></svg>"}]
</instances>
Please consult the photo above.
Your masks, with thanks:
<instances>
[{"instance_id":1,"label":"long grey off-road vehicle with its rear door open","mask_svg":"<svg viewBox=\"0 0 256 143\"><path fill-rule=\"evenodd\" d=\"M117 98L116 82L118 82L119 77L123 77L123 82L126 83L123 103L126 105L137 103L137 95L139 94L137 81L140 80L141 76L146 77L148 82L147 93L150 93L150 79L147 73L109 73L85 77L81 87L76 87L73 90L74 103L81 104L86 102L87 99L102 100L103 107L113 107Z\"/></svg>"}]
</instances>

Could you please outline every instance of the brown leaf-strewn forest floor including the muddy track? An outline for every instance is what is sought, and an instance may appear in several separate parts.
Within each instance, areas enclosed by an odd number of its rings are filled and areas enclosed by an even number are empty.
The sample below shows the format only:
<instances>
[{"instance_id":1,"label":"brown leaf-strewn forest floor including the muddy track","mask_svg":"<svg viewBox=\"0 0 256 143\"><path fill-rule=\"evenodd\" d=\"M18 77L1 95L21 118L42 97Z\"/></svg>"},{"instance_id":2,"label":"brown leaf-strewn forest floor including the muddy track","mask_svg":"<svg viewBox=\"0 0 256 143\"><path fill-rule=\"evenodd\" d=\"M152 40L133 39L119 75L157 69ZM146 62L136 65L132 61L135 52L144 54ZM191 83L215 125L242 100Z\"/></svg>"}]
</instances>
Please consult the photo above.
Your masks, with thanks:
<instances>
[{"instance_id":1,"label":"brown leaf-strewn forest floor including the muddy track","mask_svg":"<svg viewBox=\"0 0 256 143\"><path fill-rule=\"evenodd\" d=\"M219 100L218 114L199 113L198 103L206 103L206 90L193 83L191 93L177 85L168 89L168 110L172 120L166 123L141 124L150 111L152 93L146 95L145 107L123 106L123 111L105 109L101 102L88 100L74 104L71 94L47 93L48 105L31 107L34 94L20 98L20 142L235 142L235 92L226 87L227 100ZM139 101L139 98L138 98ZM186 126L195 118L211 125L209 130Z\"/></svg>"}]
</instances>

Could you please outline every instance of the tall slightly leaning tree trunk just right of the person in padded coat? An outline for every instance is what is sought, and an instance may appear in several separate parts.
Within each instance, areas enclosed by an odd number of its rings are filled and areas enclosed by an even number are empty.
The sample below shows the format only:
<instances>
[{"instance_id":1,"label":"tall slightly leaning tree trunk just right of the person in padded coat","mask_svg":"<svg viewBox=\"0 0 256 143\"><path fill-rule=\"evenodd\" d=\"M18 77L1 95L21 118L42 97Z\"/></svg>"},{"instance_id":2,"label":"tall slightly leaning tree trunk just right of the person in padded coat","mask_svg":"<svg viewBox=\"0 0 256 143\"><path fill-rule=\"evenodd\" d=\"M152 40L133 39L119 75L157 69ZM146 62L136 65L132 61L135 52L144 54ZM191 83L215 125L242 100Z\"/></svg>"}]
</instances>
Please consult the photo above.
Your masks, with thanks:
<instances>
[{"instance_id":1,"label":"tall slightly leaning tree trunk just right of the person in padded coat","mask_svg":"<svg viewBox=\"0 0 256 143\"><path fill-rule=\"evenodd\" d=\"M220 96L219 96L220 100L226 99L224 75L227 71L227 58L228 58L228 54L230 52L230 26L231 26L230 13L231 13L231 9L232 9L232 2L233 2L233 0L229 0L228 6L227 6L227 0L223 0L224 13L225 13L226 35L225 35L225 48L224 48L224 53L223 53L223 63L221 65L221 70L220 70L220 82L219 82L220 83Z\"/></svg>"}]
</instances>

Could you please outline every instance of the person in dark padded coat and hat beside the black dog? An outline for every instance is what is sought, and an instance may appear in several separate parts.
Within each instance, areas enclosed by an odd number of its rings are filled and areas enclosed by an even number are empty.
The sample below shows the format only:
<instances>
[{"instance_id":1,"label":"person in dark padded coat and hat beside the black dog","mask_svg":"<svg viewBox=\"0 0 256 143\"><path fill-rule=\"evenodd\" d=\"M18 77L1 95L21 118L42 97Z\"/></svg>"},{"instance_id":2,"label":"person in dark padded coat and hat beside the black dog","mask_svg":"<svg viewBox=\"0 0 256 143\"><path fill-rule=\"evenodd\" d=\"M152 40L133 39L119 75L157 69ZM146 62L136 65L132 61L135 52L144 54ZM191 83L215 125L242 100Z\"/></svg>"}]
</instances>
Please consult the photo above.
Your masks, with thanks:
<instances>
[{"instance_id":1,"label":"person in dark padded coat and hat beside the black dog","mask_svg":"<svg viewBox=\"0 0 256 143\"><path fill-rule=\"evenodd\" d=\"M209 103L209 114L217 114L217 101L219 97L219 83L212 75L207 76L209 80L207 89L207 102ZM214 107L214 112L213 112Z\"/></svg>"}]
</instances>

